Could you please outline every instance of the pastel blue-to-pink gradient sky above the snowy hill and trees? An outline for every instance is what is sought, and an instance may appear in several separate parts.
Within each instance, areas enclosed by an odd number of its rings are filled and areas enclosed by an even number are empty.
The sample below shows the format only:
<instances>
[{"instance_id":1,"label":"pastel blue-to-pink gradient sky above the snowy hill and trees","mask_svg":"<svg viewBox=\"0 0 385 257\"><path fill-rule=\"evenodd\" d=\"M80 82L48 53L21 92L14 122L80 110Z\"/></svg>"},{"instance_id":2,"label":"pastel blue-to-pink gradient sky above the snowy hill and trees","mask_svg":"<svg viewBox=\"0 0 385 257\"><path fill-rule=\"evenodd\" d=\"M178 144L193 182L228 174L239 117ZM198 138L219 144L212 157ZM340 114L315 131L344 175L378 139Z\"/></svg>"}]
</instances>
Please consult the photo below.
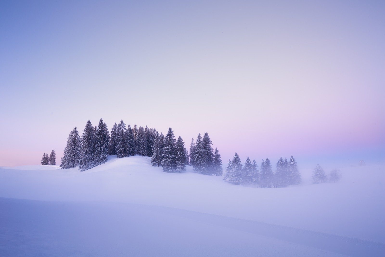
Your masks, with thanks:
<instances>
[{"instance_id":1,"label":"pastel blue-to-pink gradient sky above the snowy hill and trees","mask_svg":"<svg viewBox=\"0 0 385 257\"><path fill-rule=\"evenodd\" d=\"M1 1L0 166L102 118L300 168L385 162L384 1Z\"/></svg>"}]
</instances>

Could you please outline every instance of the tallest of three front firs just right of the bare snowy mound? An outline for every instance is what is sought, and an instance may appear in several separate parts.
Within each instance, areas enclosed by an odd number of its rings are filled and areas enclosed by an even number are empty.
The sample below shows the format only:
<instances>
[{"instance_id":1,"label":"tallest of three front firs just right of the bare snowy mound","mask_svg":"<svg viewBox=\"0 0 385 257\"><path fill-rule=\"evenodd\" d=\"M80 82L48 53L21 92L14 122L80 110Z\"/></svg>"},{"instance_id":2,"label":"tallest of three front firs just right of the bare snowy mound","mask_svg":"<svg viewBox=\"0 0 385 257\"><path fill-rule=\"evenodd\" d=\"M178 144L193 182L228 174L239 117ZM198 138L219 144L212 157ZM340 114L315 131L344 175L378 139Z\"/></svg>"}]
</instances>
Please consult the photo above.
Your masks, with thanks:
<instances>
[{"instance_id":1,"label":"tallest of three front firs just right of the bare snowy mound","mask_svg":"<svg viewBox=\"0 0 385 257\"><path fill-rule=\"evenodd\" d=\"M168 129L164 137L162 169L165 172L176 172L175 136L171 128Z\"/></svg>"}]
</instances>

